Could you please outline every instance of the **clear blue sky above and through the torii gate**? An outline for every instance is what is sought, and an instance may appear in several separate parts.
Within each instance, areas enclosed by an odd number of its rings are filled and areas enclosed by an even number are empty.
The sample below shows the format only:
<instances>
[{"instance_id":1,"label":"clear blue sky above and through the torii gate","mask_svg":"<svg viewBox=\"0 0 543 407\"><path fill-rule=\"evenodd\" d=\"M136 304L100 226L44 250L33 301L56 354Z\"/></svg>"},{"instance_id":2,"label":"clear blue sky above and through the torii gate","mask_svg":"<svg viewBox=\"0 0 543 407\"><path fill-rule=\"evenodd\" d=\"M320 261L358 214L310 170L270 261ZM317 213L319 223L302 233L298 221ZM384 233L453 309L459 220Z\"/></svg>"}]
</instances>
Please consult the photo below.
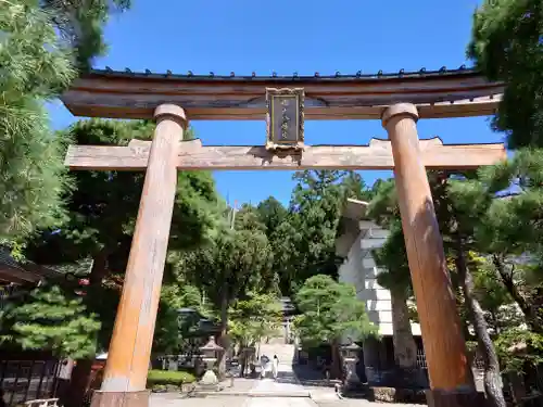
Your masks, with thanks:
<instances>
[{"instance_id":1,"label":"clear blue sky above and through the torii gate","mask_svg":"<svg viewBox=\"0 0 543 407\"><path fill-rule=\"evenodd\" d=\"M454 1L248 1L132 0L130 11L106 27L110 51L96 67L132 71L171 69L193 73L321 75L457 68L477 0ZM75 118L61 105L51 107L55 128ZM262 122L192 122L206 144L263 144ZM489 118L427 119L421 138L445 143L496 142ZM386 137L378 120L307 122L310 144L367 143ZM288 203L290 171L222 171L214 174L219 192L230 202L257 203L274 195ZM364 171L372 183L389 173Z\"/></svg>"}]
</instances>

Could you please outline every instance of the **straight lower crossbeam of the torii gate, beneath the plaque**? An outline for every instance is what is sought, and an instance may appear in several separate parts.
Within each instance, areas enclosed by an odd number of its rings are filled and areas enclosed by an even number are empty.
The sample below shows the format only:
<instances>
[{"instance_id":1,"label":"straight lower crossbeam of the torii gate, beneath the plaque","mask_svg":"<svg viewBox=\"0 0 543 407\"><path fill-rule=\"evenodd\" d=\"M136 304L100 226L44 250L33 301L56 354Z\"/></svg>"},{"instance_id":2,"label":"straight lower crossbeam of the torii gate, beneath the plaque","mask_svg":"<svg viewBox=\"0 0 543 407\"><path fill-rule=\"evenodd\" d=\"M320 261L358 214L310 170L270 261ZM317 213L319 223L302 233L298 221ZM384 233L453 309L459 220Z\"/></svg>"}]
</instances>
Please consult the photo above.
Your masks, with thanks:
<instances>
[{"instance_id":1,"label":"straight lower crossbeam of the torii gate, beneath the plaque","mask_svg":"<svg viewBox=\"0 0 543 407\"><path fill-rule=\"evenodd\" d=\"M143 170L150 141L132 140L128 147L71 145L65 165L71 169ZM441 139L420 140L427 168L470 169L506 157L502 143L447 144ZM202 145L200 140L181 141L177 169L393 169L390 141L371 139L369 145L308 145L301 154L274 155L261 145Z\"/></svg>"}]
</instances>

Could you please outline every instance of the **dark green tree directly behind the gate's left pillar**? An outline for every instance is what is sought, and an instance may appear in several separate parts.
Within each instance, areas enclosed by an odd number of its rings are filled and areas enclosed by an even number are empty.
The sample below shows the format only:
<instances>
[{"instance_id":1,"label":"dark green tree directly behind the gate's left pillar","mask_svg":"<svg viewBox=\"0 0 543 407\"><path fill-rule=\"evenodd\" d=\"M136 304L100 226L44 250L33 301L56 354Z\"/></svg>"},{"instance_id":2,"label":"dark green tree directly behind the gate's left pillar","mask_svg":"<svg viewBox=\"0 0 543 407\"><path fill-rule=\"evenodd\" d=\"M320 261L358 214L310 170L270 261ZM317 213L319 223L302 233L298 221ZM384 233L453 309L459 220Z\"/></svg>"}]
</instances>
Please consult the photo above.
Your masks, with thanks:
<instances>
[{"instance_id":1,"label":"dark green tree directly behind the gate's left pillar","mask_svg":"<svg viewBox=\"0 0 543 407\"><path fill-rule=\"evenodd\" d=\"M75 123L66 138L79 144L126 145L132 138L150 139L154 125L148 122L90 119ZM38 264L64 265L86 262L78 275L88 277L87 309L102 321L97 349L106 348L113 330L124 270L143 188L144 173L77 171L74 188L64 195L67 218L63 227L49 228L27 243L26 255ZM204 243L214 233L217 196L207 173L179 173L171 250L187 250ZM88 262L90 259L90 262ZM116 283L108 283L111 277ZM166 322L169 319L160 319ZM157 325L161 332L161 325ZM90 374L93 358L78 360L72 380L71 402L76 405Z\"/></svg>"}]
</instances>

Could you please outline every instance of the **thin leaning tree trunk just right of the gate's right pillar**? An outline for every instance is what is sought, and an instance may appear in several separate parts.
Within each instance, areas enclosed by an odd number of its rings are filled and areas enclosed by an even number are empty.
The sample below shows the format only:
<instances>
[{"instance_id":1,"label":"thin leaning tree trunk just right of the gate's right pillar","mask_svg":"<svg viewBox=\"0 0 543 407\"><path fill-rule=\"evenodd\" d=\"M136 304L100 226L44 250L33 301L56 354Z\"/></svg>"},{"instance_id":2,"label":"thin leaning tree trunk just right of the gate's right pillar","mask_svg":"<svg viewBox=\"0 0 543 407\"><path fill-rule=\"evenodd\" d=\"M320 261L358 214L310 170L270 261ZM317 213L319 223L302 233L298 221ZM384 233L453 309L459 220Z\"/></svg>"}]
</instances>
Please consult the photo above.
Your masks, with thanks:
<instances>
[{"instance_id":1,"label":"thin leaning tree trunk just right of the gate's right pillar","mask_svg":"<svg viewBox=\"0 0 543 407\"><path fill-rule=\"evenodd\" d=\"M487 321L484 320L484 311L473 294L475 283L471 272L468 270L464 244L460 238L456 242L456 268L458 271L459 281L466 298L471 317L471 323L477 336L479 352L484 363L484 392L489 407L506 407L503 391L501 389L500 364L497 360L494 344L489 335Z\"/></svg>"}]
</instances>

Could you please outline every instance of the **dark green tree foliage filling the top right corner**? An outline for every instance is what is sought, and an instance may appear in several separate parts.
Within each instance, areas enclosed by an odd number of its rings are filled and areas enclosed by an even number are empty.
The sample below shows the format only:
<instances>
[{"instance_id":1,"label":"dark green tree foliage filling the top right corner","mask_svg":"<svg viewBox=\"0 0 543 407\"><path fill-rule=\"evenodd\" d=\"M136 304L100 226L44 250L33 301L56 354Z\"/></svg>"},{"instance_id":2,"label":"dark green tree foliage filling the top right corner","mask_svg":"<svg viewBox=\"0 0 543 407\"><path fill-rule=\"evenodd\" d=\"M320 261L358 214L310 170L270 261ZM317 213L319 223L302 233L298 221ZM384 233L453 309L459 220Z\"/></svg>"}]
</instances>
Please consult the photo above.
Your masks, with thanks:
<instances>
[{"instance_id":1,"label":"dark green tree foliage filling the top right corner","mask_svg":"<svg viewBox=\"0 0 543 407\"><path fill-rule=\"evenodd\" d=\"M543 147L542 35L539 0L484 0L473 15L468 56L490 80L507 84L493 127L513 149Z\"/></svg>"}]
</instances>

